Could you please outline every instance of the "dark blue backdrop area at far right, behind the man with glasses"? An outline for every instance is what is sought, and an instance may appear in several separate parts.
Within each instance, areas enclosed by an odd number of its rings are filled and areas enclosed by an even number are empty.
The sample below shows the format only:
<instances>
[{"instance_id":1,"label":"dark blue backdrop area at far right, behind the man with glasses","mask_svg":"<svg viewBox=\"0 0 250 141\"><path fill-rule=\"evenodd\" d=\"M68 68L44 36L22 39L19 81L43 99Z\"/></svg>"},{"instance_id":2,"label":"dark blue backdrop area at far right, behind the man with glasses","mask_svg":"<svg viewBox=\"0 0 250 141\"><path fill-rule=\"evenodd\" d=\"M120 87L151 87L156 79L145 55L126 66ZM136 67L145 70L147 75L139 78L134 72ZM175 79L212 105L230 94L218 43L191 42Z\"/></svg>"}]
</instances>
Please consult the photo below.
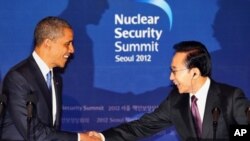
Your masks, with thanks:
<instances>
[{"instance_id":1,"label":"dark blue backdrop area at far right, behind the man with glasses","mask_svg":"<svg viewBox=\"0 0 250 141\"><path fill-rule=\"evenodd\" d=\"M213 77L250 97L250 1L219 0L218 6L213 28L221 50L212 53Z\"/></svg>"}]
</instances>

